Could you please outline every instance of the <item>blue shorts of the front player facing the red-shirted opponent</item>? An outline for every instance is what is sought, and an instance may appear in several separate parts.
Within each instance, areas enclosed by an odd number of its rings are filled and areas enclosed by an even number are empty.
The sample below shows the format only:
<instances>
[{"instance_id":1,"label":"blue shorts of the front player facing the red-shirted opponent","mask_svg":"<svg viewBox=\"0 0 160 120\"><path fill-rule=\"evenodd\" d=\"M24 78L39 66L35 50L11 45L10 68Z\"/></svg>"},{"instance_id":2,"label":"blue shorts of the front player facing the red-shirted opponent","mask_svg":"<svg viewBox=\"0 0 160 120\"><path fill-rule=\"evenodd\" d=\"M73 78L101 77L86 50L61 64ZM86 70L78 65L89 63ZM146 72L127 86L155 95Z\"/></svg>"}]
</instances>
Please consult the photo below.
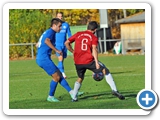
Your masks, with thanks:
<instances>
[{"instance_id":1,"label":"blue shorts of the front player facing the red-shirted opponent","mask_svg":"<svg viewBox=\"0 0 160 120\"><path fill-rule=\"evenodd\" d=\"M46 60L36 59L36 63L50 76L52 76L55 72L58 71L57 66L50 59Z\"/></svg>"}]
</instances>

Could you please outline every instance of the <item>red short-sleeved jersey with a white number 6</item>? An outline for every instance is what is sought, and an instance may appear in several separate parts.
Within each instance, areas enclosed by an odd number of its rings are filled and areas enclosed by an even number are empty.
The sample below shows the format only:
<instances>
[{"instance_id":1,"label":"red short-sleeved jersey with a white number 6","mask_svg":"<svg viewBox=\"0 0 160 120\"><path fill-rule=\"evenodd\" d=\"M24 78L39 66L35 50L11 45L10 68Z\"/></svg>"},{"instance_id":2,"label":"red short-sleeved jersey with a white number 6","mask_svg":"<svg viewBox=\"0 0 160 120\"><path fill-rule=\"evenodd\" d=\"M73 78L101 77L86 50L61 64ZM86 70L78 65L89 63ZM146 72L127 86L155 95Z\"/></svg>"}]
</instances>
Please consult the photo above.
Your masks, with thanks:
<instances>
[{"instance_id":1,"label":"red short-sleeved jersey with a white number 6","mask_svg":"<svg viewBox=\"0 0 160 120\"><path fill-rule=\"evenodd\" d=\"M88 64L94 60L92 45L98 45L98 38L90 31L77 32L68 39L74 45L75 64Z\"/></svg>"}]
</instances>

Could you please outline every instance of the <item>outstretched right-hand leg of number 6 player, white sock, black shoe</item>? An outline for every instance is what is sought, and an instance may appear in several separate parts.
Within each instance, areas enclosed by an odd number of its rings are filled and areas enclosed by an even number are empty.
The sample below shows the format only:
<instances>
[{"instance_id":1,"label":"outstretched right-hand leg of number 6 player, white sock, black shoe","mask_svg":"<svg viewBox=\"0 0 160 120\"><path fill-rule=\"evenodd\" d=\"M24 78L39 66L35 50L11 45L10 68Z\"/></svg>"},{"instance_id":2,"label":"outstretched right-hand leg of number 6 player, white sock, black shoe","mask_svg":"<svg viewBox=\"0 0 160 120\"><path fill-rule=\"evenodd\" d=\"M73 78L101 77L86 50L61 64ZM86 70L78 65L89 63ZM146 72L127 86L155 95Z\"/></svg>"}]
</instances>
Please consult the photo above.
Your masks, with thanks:
<instances>
[{"instance_id":1,"label":"outstretched right-hand leg of number 6 player, white sock, black shoe","mask_svg":"<svg viewBox=\"0 0 160 120\"><path fill-rule=\"evenodd\" d=\"M106 82L108 83L108 85L110 86L110 88L112 90L112 94L117 96L120 100L124 100L125 97L118 92L116 84L114 82L114 79L113 79L109 69L103 63L99 62L99 64L100 64L100 66L104 67L102 72L105 75Z\"/></svg>"}]
</instances>

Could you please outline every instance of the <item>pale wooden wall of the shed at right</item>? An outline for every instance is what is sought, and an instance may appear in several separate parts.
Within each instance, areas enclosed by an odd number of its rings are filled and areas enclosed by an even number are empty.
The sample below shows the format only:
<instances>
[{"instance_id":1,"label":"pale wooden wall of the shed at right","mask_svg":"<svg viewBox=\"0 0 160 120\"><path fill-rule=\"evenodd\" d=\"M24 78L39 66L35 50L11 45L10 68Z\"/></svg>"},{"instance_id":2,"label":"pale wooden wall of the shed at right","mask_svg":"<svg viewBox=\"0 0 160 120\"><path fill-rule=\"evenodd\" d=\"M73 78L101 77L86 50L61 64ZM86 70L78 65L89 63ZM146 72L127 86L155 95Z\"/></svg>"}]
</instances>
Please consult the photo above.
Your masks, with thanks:
<instances>
[{"instance_id":1,"label":"pale wooden wall of the shed at right","mask_svg":"<svg viewBox=\"0 0 160 120\"><path fill-rule=\"evenodd\" d=\"M121 39L123 47L128 47L128 42L141 42L145 47L145 23L121 24Z\"/></svg>"}]
</instances>

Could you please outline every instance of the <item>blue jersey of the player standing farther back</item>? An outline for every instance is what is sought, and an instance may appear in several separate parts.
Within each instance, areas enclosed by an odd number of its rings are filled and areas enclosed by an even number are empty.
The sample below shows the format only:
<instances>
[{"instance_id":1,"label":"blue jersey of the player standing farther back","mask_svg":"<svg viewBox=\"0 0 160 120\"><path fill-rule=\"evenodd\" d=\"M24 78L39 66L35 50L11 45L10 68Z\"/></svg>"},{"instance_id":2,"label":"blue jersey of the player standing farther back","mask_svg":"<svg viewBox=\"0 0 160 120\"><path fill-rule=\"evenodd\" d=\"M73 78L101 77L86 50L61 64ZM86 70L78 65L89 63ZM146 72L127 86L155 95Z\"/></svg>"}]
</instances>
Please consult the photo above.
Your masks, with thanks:
<instances>
[{"instance_id":1,"label":"blue jersey of the player standing farther back","mask_svg":"<svg viewBox=\"0 0 160 120\"><path fill-rule=\"evenodd\" d=\"M62 23L61 31L56 33L56 46L65 46L64 43L68 38L71 37L70 26L67 22Z\"/></svg>"}]
</instances>

